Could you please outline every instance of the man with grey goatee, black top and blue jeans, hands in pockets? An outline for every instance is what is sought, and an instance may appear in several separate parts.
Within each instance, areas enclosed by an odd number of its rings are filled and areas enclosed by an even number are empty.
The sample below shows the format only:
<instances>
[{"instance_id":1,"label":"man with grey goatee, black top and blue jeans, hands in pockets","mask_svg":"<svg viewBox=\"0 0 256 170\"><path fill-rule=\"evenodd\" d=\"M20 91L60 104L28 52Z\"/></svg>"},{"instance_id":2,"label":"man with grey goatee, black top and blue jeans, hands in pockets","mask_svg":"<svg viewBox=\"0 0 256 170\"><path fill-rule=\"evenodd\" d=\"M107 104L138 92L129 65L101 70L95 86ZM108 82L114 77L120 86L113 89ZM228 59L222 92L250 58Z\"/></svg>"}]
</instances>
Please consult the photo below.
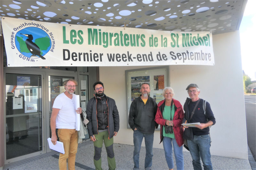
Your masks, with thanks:
<instances>
[{"instance_id":1,"label":"man with grey goatee, black top and blue jeans, hands in pockets","mask_svg":"<svg viewBox=\"0 0 256 170\"><path fill-rule=\"evenodd\" d=\"M154 131L158 127L158 124L155 122L157 105L156 101L148 96L150 92L148 83L140 85L140 92L140 97L132 101L128 120L133 130L133 169L139 169L140 147L144 137L146 146L145 169L150 170L153 157Z\"/></svg>"}]
</instances>

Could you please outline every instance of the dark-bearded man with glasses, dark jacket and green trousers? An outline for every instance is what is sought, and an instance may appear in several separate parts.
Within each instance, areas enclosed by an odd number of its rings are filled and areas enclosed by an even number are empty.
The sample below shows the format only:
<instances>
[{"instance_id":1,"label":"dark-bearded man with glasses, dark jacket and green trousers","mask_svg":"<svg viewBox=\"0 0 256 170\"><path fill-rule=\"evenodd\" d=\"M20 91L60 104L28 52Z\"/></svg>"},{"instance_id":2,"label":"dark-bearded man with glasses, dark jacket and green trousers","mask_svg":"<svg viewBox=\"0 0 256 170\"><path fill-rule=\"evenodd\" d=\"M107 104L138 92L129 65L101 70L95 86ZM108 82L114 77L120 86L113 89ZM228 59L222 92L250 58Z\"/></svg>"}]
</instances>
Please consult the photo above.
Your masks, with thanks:
<instances>
[{"instance_id":1,"label":"dark-bearded man with glasses, dark jacket and green trousers","mask_svg":"<svg viewBox=\"0 0 256 170\"><path fill-rule=\"evenodd\" d=\"M119 130L119 115L114 99L104 94L104 85L97 81L93 84L94 97L89 100L86 108L87 124L90 139L94 144L94 165L96 170L101 168L101 148L104 145L107 151L109 169L116 168L115 155L113 150L113 136Z\"/></svg>"}]
</instances>

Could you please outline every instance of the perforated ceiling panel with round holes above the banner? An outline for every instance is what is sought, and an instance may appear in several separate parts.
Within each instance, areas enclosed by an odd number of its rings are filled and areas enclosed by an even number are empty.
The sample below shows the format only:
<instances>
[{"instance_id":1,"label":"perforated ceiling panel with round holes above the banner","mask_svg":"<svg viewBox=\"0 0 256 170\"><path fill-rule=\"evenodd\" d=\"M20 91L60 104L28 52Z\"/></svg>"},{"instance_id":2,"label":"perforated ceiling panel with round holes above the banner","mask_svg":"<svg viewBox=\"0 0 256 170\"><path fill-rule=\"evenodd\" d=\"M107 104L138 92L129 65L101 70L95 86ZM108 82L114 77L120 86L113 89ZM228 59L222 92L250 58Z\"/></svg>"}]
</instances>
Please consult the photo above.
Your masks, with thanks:
<instances>
[{"instance_id":1,"label":"perforated ceiling panel with round holes above the banner","mask_svg":"<svg viewBox=\"0 0 256 170\"><path fill-rule=\"evenodd\" d=\"M0 0L2 17L164 31L239 29L247 0Z\"/></svg>"}]
</instances>

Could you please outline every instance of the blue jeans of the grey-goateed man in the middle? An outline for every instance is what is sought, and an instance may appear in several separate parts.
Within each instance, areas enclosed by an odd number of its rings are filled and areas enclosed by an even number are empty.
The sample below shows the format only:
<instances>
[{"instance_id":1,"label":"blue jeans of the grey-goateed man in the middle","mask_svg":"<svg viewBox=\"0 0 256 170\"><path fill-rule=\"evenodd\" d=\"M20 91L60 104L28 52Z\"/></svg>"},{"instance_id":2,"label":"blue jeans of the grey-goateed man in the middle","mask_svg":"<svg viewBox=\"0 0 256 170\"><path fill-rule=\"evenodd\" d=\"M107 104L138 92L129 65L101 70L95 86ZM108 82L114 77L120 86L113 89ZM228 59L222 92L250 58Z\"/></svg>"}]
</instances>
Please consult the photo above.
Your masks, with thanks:
<instances>
[{"instance_id":1,"label":"blue jeans of the grey-goateed man in the middle","mask_svg":"<svg viewBox=\"0 0 256 170\"><path fill-rule=\"evenodd\" d=\"M134 162L134 170L140 169L139 158L140 158L140 148L141 143L145 138L145 146L146 146L146 157L145 157L145 169L149 170L152 166L152 157L153 157L153 141L154 141L154 133L145 134L140 132L140 130L133 131L133 162Z\"/></svg>"}]
</instances>

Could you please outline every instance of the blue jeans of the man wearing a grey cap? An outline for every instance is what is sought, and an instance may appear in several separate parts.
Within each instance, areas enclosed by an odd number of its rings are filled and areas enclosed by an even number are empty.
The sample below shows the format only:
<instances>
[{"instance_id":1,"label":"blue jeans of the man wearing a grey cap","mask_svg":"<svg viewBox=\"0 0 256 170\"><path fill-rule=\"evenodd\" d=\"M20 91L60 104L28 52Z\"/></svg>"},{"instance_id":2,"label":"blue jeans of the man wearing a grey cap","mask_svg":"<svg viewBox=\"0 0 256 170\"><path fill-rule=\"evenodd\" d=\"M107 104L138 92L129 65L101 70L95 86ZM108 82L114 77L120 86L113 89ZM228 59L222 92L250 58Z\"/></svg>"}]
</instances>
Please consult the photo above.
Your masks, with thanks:
<instances>
[{"instance_id":1,"label":"blue jeans of the man wearing a grey cap","mask_svg":"<svg viewBox=\"0 0 256 170\"><path fill-rule=\"evenodd\" d=\"M209 135L194 136L194 140L187 140L188 148L193 159L195 170L201 170L200 156L203 162L204 170L212 170L210 146L211 140Z\"/></svg>"}]
</instances>

